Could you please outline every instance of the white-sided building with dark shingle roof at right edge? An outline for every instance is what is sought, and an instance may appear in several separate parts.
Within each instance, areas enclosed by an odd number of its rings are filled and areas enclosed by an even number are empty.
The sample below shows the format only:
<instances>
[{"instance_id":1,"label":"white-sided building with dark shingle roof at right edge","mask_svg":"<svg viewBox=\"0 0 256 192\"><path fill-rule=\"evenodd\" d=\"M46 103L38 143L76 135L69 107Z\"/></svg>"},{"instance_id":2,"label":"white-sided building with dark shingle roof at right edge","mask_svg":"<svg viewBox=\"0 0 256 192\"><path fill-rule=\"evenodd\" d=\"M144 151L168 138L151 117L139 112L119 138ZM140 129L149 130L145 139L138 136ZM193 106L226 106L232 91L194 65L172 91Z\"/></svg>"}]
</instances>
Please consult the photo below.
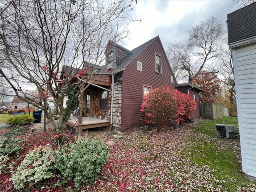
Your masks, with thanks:
<instances>
[{"instance_id":1,"label":"white-sided building with dark shingle roof at right edge","mask_svg":"<svg viewBox=\"0 0 256 192\"><path fill-rule=\"evenodd\" d=\"M256 180L256 2L227 15L242 170Z\"/></svg>"}]
</instances>

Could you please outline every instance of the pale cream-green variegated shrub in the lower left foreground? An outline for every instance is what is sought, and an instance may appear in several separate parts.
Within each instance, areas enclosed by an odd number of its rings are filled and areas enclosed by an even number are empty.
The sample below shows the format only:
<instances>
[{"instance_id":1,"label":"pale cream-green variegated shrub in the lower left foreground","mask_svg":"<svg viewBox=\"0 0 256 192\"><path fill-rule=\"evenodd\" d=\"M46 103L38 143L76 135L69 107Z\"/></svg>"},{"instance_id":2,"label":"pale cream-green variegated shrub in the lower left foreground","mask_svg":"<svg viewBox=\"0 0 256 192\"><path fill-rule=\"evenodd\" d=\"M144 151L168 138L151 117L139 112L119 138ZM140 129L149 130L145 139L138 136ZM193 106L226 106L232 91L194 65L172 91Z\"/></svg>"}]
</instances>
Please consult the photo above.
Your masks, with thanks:
<instances>
[{"instance_id":1,"label":"pale cream-green variegated shrub in the lower left foreground","mask_svg":"<svg viewBox=\"0 0 256 192\"><path fill-rule=\"evenodd\" d=\"M50 146L39 146L36 150L26 154L24 160L17 167L16 172L12 172L14 186L22 189L30 182L36 183L47 178L52 178L54 174L54 150Z\"/></svg>"}]
</instances>

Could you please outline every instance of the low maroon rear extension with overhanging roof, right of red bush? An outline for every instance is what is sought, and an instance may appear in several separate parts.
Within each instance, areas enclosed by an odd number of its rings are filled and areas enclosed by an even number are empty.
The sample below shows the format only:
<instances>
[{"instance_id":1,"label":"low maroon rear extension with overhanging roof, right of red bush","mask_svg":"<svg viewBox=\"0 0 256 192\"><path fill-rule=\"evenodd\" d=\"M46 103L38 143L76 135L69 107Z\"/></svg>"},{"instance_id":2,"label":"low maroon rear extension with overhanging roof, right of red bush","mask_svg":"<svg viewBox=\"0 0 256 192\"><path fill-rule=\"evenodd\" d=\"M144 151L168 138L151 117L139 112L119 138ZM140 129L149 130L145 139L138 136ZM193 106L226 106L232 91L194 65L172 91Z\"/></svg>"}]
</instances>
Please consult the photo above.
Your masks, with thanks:
<instances>
[{"instance_id":1,"label":"low maroon rear extension with overhanging roof, right of red bush","mask_svg":"<svg viewBox=\"0 0 256 192\"><path fill-rule=\"evenodd\" d=\"M202 90L198 86L196 86L194 84L191 84L191 83L176 84L175 86L180 92L190 94L191 97L196 102L196 109L194 111L192 111L190 119L200 118L201 113L200 113L200 96L199 96L199 93L203 92L204 90Z\"/></svg>"}]
</instances>

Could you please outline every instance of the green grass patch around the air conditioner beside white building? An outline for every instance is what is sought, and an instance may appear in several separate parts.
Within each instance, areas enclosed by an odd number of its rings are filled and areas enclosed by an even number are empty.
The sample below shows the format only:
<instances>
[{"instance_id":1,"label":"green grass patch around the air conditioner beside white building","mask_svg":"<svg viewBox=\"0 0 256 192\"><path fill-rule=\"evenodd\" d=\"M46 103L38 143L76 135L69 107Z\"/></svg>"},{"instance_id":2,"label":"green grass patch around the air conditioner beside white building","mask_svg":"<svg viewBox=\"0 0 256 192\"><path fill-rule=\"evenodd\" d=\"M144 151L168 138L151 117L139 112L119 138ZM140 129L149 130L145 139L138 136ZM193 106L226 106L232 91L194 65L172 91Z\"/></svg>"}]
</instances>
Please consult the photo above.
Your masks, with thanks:
<instances>
[{"instance_id":1,"label":"green grass patch around the air conditioner beside white building","mask_svg":"<svg viewBox=\"0 0 256 192\"><path fill-rule=\"evenodd\" d=\"M198 165L205 164L215 170L212 174L216 176L225 190L237 191L237 186L250 184L240 171L241 165L236 154L240 153L239 138L218 138L215 124L232 124L238 132L238 121L236 117L223 117L219 120L198 122L192 127L193 132L201 134L200 137L189 136L189 148L184 149L183 155L196 162ZM239 150L237 150L239 148ZM236 149L236 150L235 150Z\"/></svg>"}]
</instances>

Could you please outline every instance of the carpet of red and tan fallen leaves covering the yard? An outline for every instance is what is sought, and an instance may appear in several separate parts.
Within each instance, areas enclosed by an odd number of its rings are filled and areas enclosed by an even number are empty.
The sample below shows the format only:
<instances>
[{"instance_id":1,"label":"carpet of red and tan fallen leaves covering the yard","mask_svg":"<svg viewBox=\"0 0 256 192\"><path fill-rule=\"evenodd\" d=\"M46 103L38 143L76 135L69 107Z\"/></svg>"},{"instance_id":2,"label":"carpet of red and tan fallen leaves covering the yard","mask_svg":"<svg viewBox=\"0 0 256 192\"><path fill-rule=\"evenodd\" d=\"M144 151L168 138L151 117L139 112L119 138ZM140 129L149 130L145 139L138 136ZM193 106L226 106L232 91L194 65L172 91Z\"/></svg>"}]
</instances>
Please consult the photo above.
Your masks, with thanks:
<instances>
[{"instance_id":1,"label":"carpet of red and tan fallen leaves covering the yard","mask_svg":"<svg viewBox=\"0 0 256 192\"><path fill-rule=\"evenodd\" d=\"M16 161L15 166L20 164L24 155L46 144L54 144L55 133L48 129L47 132L32 133L25 138L24 148L20 159ZM74 139L72 129L66 129L64 144ZM100 172L100 177L93 184L84 186L82 191L94 192L144 192L144 191L163 191L163 192L193 192L193 191L211 191L224 192L230 191L223 186L225 179L216 178L216 170L211 169L207 164L197 164L189 160L186 156L194 154L188 152L184 156L185 149L190 148L197 140L205 139L207 142L216 142L218 150L227 148L224 140L209 138L204 134L194 134L191 128L184 124L178 131L166 131L156 133L155 130L150 132L136 131L124 136L122 139L114 139L108 132L83 132L83 137L101 139L104 142L114 141L110 145L110 158L105 164L104 169ZM55 136L56 137L56 136ZM195 138L192 141L191 138ZM240 145L235 140L228 140L237 151L238 160L240 160ZM218 153L218 150L216 153ZM201 152L204 156L205 151ZM14 161L14 160L11 160ZM15 166L13 167L15 169ZM9 170L7 170L9 171ZM2 173L0 177L1 184L11 184L8 181L10 176L8 172ZM46 188L35 189L38 191L55 191L51 188L54 182L49 181ZM35 185L36 186L36 185ZM66 189L72 189L74 183L69 182ZM255 185L237 186L238 191L256 191ZM61 189L58 189L61 190Z\"/></svg>"}]
</instances>

